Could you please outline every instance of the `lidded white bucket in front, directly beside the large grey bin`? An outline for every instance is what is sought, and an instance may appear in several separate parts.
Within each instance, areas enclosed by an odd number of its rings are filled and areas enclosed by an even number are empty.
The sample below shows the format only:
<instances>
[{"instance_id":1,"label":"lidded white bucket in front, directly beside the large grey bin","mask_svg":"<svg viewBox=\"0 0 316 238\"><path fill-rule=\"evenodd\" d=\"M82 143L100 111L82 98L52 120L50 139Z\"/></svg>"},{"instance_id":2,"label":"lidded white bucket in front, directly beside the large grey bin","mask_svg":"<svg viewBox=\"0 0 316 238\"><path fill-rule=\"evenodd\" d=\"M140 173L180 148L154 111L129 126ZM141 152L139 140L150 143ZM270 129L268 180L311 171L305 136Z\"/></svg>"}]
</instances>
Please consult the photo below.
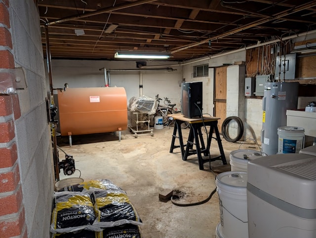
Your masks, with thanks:
<instances>
[{"instance_id":1,"label":"lidded white bucket in front, directly beside the large grey bin","mask_svg":"<svg viewBox=\"0 0 316 238\"><path fill-rule=\"evenodd\" d=\"M247 172L229 171L216 177L222 237L248 238Z\"/></svg>"}]
</instances>

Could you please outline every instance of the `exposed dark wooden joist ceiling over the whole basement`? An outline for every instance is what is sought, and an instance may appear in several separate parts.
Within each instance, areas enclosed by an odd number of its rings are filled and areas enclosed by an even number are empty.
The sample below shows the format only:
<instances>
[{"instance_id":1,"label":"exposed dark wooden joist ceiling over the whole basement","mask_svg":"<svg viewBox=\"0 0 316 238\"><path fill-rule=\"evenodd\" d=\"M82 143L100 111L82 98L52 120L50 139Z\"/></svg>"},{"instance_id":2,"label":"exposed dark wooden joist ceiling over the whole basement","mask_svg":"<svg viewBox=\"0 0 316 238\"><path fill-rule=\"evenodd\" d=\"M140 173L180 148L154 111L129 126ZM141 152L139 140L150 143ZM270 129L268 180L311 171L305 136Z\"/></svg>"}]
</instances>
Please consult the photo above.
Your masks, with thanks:
<instances>
[{"instance_id":1,"label":"exposed dark wooden joist ceiling over the whole basement","mask_svg":"<svg viewBox=\"0 0 316 238\"><path fill-rule=\"evenodd\" d=\"M53 58L113 60L116 50L141 50L171 51L169 60L179 61L316 29L316 0L41 0L38 7Z\"/></svg>"}]
</instances>

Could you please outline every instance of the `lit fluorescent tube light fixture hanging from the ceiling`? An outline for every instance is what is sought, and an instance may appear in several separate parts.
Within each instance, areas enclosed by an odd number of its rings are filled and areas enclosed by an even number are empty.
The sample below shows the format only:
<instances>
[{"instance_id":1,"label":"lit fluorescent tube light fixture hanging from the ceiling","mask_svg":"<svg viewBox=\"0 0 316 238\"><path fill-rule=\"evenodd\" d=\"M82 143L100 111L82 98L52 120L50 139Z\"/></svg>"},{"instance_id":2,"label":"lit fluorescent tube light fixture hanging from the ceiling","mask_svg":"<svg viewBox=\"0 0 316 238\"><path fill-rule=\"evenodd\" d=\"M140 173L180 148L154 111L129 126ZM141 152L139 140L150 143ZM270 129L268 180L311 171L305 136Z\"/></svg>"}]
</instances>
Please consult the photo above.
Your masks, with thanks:
<instances>
[{"instance_id":1,"label":"lit fluorescent tube light fixture hanging from the ceiling","mask_svg":"<svg viewBox=\"0 0 316 238\"><path fill-rule=\"evenodd\" d=\"M167 52L148 52L148 51L117 51L114 58L129 59L168 59L170 54Z\"/></svg>"}]
</instances>

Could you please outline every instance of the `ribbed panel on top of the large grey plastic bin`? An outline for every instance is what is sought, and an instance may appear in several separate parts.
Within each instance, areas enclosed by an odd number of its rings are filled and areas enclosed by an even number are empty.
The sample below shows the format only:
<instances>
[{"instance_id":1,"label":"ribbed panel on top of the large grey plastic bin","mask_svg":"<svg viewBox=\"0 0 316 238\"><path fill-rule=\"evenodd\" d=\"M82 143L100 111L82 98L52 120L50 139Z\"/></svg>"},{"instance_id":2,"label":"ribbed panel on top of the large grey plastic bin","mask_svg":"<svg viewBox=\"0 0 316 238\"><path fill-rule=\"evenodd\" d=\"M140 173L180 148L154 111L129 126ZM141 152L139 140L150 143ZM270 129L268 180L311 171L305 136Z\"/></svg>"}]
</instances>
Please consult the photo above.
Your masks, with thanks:
<instances>
[{"instance_id":1,"label":"ribbed panel on top of the large grey plastic bin","mask_svg":"<svg viewBox=\"0 0 316 238\"><path fill-rule=\"evenodd\" d=\"M316 158L296 164L275 166L276 168L295 174L299 177L316 180Z\"/></svg>"}]
</instances>

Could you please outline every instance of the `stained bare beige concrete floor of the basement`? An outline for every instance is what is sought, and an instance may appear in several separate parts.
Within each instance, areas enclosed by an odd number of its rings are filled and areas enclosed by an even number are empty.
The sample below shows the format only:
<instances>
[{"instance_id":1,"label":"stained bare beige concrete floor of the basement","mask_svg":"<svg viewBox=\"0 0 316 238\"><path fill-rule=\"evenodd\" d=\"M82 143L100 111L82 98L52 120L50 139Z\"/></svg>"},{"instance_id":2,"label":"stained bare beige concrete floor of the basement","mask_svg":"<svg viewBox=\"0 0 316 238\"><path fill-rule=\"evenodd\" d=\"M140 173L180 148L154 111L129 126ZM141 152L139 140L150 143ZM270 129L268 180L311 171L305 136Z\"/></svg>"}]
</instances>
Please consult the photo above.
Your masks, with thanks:
<instances>
[{"instance_id":1,"label":"stained bare beige concrete floor of the basement","mask_svg":"<svg viewBox=\"0 0 316 238\"><path fill-rule=\"evenodd\" d=\"M120 142L116 133L73 136L72 147L67 144L68 138L58 140L58 146L74 157L85 181L109 179L127 193L144 223L141 226L143 238L215 238L216 225L220 222L217 193L208 202L189 207L158 199L159 192L170 189L183 195L178 202L197 202L216 188L209 163L204 164L204 170L199 170L196 155L183 161L180 149L169 153L172 132L173 127L165 127L155 129L154 136L143 133L135 138L126 130ZM186 141L189 129L183 134ZM254 146L225 139L222 143L228 165L223 165L221 160L211 162L216 175L230 171L231 151L238 150L240 145L240 149ZM211 155L219 155L215 140L212 140ZM59 156L64 158L61 151ZM72 176L64 176L61 171L60 179L70 177L79 177L79 171Z\"/></svg>"}]
</instances>

